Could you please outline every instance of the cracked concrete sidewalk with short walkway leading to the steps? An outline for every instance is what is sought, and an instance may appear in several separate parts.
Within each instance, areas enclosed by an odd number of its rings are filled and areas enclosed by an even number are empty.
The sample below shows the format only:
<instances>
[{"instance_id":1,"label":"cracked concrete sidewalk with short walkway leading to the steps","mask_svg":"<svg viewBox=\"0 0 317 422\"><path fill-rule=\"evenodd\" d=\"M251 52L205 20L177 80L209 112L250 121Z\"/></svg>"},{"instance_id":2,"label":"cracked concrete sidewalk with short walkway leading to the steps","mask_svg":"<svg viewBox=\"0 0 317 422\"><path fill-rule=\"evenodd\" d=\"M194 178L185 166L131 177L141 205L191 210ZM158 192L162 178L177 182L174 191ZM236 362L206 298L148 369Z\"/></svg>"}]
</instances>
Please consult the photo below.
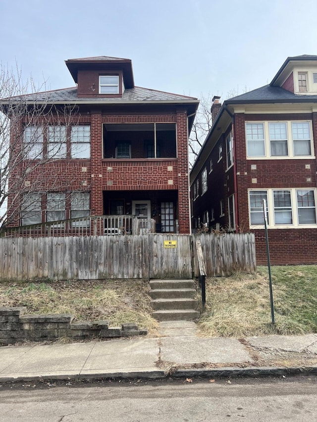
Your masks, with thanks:
<instances>
[{"instance_id":1,"label":"cracked concrete sidewalk with short walkway leading to the steps","mask_svg":"<svg viewBox=\"0 0 317 422\"><path fill-rule=\"evenodd\" d=\"M44 378L317 373L317 334L202 338L191 322L161 323L160 337L0 347L0 382Z\"/></svg>"}]
</instances>

